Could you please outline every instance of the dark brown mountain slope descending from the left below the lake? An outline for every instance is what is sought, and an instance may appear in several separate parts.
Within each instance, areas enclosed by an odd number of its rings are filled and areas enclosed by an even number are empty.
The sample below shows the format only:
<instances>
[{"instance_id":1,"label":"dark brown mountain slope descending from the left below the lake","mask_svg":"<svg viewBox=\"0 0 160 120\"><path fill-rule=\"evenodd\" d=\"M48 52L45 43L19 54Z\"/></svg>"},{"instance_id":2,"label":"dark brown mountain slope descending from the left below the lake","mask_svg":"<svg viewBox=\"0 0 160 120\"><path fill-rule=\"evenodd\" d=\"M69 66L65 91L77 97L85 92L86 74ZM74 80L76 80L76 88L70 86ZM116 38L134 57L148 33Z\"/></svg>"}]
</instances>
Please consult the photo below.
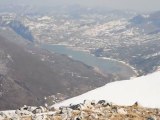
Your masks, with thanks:
<instances>
[{"instance_id":1,"label":"dark brown mountain slope descending from the left below the lake","mask_svg":"<svg viewBox=\"0 0 160 120\"><path fill-rule=\"evenodd\" d=\"M92 67L64 55L0 36L1 110L16 109L24 104L43 105L45 96L57 97L57 93L66 99L111 80L110 75L103 77Z\"/></svg>"}]
</instances>

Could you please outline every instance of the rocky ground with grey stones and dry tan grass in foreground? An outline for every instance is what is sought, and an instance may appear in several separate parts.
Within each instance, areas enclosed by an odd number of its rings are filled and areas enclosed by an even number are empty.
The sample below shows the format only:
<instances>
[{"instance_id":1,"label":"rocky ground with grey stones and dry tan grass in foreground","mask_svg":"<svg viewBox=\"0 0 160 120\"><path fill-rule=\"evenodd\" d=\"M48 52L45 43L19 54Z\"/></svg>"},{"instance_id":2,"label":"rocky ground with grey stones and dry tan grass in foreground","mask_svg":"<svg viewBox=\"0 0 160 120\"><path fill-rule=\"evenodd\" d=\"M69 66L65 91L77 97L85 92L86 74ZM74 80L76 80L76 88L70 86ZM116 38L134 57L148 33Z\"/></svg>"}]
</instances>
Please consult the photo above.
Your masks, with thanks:
<instances>
[{"instance_id":1,"label":"rocky ground with grey stones and dry tan grass in foreground","mask_svg":"<svg viewBox=\"0 0 160 120\"><path fill-rule=\"evenodd\" d=\"M12 113L0 113L2 119L21 120L159 120L160 109L143 108L136 102L132 106L118 106L105 100L84 101L77 105L47 109L24 106Z\"/></svg>"}]
</instances>

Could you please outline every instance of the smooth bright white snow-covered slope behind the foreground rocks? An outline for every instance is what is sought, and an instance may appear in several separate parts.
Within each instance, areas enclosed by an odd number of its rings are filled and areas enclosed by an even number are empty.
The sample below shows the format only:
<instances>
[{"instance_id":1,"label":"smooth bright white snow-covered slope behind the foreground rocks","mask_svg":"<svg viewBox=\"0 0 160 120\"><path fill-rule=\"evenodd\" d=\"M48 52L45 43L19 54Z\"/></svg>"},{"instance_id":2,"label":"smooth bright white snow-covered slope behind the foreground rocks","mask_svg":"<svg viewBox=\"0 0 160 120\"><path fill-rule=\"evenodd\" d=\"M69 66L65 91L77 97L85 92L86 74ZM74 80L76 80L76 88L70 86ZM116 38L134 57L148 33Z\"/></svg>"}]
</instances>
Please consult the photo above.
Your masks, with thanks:
<instances>
[{"instance_id":1,"label":"smooth bright white snow-covered slope behind the foreground rocks","mask_svg":"<svg viewBox=\"0 0 160 120\"><path fill-rule=\"evenodd\" d=\"M160 71L132 80L109 83L52 107L79 104L84 100L107 100L119 105L138 102L144 107L160 108Z\"/></svg>"}]
</instances>

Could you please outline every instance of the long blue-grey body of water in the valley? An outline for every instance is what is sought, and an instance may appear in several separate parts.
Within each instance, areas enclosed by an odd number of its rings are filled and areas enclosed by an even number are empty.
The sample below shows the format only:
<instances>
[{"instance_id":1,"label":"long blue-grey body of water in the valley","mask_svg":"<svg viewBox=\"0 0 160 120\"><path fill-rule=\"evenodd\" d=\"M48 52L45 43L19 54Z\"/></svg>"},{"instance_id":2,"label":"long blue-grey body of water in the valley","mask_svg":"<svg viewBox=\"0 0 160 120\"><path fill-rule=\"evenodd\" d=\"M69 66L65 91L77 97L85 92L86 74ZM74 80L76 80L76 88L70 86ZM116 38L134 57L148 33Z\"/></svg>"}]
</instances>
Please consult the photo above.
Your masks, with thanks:
<instances>
[{"instance_id":1,"label":"long blue-grey body of water in the valley","mask_svg":"<svg viewBox=\"0 0 160 120\"><path fill-rule=\"evenodd\" d=\"M129 79L136 75L130 66L115 60L98 58L84 51L77 51L64 45L43 44L41 47L51 52L67 55L73 60L98 68L103 74L110 73L117 75L120 79Z\"/></svg>"}]
</instances>

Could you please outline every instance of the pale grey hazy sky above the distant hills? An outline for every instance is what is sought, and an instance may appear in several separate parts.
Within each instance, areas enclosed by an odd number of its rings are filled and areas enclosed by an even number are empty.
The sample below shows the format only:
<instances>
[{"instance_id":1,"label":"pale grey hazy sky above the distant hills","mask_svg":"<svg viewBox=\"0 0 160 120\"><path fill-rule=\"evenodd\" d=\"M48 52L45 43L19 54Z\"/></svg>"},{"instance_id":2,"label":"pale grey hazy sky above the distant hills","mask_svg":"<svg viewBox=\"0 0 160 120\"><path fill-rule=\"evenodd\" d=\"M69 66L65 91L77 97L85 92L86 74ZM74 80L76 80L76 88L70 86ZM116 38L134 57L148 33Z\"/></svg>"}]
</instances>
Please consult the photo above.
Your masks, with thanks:
<instances>
[{"instance_id":1,"label":"pale grey hazy sky above the distant hills","mask_svg":"<svg viewBox=\"0 0 160 120\"><path fill-rule=\"evenodd\" d=\"M105 6L115 9L133 9L138 11L160 10L160 0L0 0L0 4L36 4L36 5L68 5Z\"/></svg>"}]
</instances>

